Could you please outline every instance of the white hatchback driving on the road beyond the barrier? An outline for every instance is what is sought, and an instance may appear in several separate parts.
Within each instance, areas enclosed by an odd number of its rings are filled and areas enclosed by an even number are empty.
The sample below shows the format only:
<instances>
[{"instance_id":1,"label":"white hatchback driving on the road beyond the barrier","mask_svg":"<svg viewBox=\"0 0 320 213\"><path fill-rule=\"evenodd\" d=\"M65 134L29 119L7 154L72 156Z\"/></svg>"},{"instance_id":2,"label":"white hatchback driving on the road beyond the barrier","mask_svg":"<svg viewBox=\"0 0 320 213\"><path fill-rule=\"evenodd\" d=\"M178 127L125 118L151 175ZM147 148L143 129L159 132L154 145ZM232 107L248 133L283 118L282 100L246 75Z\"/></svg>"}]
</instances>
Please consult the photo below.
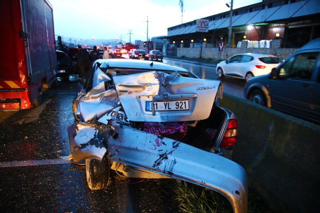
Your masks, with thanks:
<instances>
[{"instance_id":1,"label":"white hatchback driving on the road beyond the barrier","mask_svg":"<svg viewBox=\"0 0 320 213\"><path fill-rule=\"evenodd\" d=\"M248 80L253 76L270 73L279 65L279 58L274 55L243 53L235 54L216 64L216 75L224 75Z\"/></svg>"}]
</instances>

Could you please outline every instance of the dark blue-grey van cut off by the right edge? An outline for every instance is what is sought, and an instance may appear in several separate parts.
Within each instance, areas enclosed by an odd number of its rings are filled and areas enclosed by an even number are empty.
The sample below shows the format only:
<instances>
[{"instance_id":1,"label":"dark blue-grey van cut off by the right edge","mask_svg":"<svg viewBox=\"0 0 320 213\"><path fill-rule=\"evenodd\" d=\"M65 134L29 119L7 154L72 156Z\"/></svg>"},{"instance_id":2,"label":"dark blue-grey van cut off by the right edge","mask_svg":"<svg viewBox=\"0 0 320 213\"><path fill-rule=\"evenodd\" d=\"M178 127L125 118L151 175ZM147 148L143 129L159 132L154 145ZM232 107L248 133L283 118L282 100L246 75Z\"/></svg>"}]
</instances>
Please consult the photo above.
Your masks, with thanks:
<instances>
[{"instance_id":1,"label":"dark blue-grey van cut off by the right edge","mask_svg":"<svg viewBox=\"0 0 320 213\"><path fill-rule=\"evenodd\" d=\"M247 99L320 123L320 38L302 46L271 73L249 79Z\"/></svg>"}]
</instances>

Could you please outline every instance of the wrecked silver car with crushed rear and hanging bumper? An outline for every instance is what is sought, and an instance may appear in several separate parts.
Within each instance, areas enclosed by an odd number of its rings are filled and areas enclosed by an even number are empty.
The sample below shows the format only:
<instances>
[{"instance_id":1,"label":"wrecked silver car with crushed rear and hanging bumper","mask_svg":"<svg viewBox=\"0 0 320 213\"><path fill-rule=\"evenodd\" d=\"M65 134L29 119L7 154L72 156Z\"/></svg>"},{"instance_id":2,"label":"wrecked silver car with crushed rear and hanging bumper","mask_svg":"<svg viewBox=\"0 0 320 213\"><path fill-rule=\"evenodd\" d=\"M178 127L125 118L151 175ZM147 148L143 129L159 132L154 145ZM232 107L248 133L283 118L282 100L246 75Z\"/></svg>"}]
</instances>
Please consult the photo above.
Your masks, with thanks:
<instances>
[{"instance_id":1,"label":"wrecked silver car with crushed rear and hanging bumper","mask_svg":"<svg viewBox=\"0 0 320 213\"><path fill-rule=\"evenodd\" d=\"M223 194L234 212L247 211L246 173L230 160L237 123L218 106L219 80L155 61L98 59L79 86L69 159L85 159L91 189L106 187L113 169L192 182Z\"/></svg>"}]
</instances>

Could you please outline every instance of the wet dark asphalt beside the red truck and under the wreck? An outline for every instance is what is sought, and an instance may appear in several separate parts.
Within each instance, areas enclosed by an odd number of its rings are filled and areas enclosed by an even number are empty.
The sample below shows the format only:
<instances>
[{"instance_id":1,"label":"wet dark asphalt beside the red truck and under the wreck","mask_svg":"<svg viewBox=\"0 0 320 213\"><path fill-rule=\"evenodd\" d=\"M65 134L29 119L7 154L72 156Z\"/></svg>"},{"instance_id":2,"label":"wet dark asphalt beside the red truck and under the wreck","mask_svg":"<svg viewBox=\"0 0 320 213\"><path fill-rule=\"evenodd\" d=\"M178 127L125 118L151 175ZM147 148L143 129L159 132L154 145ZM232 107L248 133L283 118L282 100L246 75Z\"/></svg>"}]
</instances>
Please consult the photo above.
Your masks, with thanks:
<instances>
[{"instance_id":1,"label":"wet dark asphalt beside the red truck and under the wreck","mask_svg":"<svg viewBox=\"0 0 320 213\"><path fill-rule=\"evenodd\" d=\"M109 186L91 191L84 165L65 160L76 84L46 90L37 108L0 112L0 212L178 212L172 179L111 170Z\"/></svg>"}]
</instances>

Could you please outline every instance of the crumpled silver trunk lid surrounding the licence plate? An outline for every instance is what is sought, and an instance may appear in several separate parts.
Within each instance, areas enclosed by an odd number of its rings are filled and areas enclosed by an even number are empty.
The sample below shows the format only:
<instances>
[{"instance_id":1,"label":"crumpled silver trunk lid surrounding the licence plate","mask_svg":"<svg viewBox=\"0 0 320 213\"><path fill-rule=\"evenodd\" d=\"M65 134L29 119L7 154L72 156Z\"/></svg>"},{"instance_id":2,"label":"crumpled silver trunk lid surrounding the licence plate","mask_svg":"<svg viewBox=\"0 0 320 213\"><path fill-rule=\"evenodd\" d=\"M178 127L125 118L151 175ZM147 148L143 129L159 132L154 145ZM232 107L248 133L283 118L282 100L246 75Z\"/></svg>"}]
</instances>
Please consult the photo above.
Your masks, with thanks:
<instances>
[{"instance_id":1,"label":"crumpled silver trunk lid surrounding the licence plate","mask_svg":"<svg viewBox=\"0 0 320 213\"><path fill-rule=\"evenodd\" d=\"M183 77L149 71L114 76L113 81L129 120L171 122L206 119L211 111L219 80ZM146 111L147 101L187 100L189 110Z\"/></svg>"}]
</instances>

